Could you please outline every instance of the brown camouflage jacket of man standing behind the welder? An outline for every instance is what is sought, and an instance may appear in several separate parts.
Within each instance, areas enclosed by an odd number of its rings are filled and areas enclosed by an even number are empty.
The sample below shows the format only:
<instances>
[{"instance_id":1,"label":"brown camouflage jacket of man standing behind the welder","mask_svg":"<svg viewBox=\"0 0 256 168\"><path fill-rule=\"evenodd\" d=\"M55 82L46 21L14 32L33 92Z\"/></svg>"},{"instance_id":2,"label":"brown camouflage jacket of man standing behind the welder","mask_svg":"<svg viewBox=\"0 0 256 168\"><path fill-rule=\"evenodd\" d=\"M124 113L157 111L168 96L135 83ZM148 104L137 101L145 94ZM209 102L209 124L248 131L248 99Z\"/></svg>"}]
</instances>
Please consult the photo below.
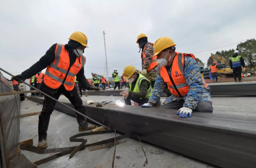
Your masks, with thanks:
<instances>
[{"instance_id":1,"label":"brown camouflage jacket of man standing behind the welder","mask_svg":"<svg viewBox=\"0 0 256 168\"><path fill-rule=\"evenodd\" d=\"M148 42L147 44L145 44L145 55L146 55L146 59L145 59L145 63L143 63L143 51L141 52L141 65L142 65L142 69L147 69L149 67L149 65L152 62L152 57L153 57L153 45ZM148 80L150 81L155 81L156 79L156 68L153 68L149 71L147 71L147 75L143 75L145 76Z\"/></svg>"}]
</instances>

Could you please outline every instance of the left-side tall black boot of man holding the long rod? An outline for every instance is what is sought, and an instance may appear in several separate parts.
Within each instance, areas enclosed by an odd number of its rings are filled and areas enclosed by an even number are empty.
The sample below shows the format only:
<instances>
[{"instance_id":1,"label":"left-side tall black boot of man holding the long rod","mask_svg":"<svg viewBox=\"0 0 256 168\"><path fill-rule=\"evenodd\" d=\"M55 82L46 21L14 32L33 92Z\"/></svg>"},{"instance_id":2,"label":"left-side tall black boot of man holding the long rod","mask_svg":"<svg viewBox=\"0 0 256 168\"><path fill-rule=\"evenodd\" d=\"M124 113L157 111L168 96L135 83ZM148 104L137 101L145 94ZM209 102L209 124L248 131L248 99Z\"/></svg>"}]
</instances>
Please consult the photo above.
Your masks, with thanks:
<instances>
[{"instance_id":1,"label":"left-side tall black boot of man holding the long rod","mask_svg":"<svg viewBox=\"0 0 256 168\"><path fill-rule=\"evenodd\" d=\"M37 148L47 148L47 130L49 126L50 116L39 115L38 120L38 145Z\"/></svg>"}]
</instances>

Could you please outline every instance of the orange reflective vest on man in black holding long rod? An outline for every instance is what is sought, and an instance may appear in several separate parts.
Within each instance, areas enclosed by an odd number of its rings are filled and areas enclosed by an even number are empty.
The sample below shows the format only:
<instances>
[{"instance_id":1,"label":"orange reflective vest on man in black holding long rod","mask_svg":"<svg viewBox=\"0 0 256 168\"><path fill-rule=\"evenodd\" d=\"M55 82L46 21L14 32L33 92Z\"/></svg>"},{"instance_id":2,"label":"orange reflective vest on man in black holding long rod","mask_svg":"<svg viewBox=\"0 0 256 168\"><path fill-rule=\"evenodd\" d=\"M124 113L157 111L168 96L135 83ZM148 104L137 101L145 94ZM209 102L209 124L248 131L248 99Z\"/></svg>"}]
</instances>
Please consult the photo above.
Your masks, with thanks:
<instances>
[{"instance_id":1,"label":"orange reflective vest on man in black holding long rod","mask_svg":"<svg viewBox=\"0 0 256 168\"><path fill-rule=\"evenodd\" d=\"M52 88L57 89L63 83L67 91L71 91L75 86L75 76L86 63L86 58L82 55L76 58L76 62L70 67L69 72L69 55L63 44L58 44L55 49L55 59L47 66L44 83ZM68 74L67 74L68 73Z\"/></svg>"}]
</instances>

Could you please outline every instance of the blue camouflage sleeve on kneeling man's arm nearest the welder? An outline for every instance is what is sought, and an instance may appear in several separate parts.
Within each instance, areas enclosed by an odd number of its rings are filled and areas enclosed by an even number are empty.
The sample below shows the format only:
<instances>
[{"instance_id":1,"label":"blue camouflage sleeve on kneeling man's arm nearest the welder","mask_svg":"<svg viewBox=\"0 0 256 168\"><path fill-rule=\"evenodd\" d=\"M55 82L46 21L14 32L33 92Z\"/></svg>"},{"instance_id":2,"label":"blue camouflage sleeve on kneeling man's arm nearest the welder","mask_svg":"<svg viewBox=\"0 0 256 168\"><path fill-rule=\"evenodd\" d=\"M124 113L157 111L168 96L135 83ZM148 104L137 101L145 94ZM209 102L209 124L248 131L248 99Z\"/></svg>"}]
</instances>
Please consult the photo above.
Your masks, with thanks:
<instances>
[{"instance_id":1,"label":"blue camouflage sleeve on kneeling man's arm nearest the welder","mask_svg":"<svg viewBox=\"0 0 256 168\"><path fill-rule=\"evenodd\" d=\"M160 97L165 89L165 82L164 79L156 73L156 82L154 85L154 89L151 93L151 96L148 100L148 103L151 105L158 105L158 103L161 103Z\"/></svg>"}]
</instances>

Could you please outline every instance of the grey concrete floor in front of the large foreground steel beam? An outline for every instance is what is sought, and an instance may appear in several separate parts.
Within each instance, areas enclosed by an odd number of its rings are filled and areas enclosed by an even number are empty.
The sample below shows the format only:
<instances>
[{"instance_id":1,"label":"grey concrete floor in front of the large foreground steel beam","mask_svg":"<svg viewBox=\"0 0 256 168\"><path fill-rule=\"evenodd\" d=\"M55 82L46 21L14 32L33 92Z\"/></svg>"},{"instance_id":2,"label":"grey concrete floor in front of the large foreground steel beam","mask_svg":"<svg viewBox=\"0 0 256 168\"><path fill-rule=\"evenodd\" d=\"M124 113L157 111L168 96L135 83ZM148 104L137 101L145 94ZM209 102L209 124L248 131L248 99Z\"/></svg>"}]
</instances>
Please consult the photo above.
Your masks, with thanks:
<instances>
[{"instance_id":1,"label":"grey concrete floor in front of the large foreground steel beam","mask_svg":"<svg viewBox=\"0 0 256 168\"><path fill-rule=\"evenodd\" d=\"M28 107L26 112L34 112L34 102L25 100L21 103L21 109ZM32 107L33 108L32 108ZM31 107L31 108L30 108ZM41 108L42 105L37 105ZM24 108L25 109L25 108ZM20 141L33 138L34 146L38 143L38 115L20 118ZM78 124L75 117L54 110L50 118L48 128L48 149L60 148L79 145L79 142L70 142L69 137L78 133ZM120 134L119 134L120 135ZM87 138L87 143L93 143L100 140L113 137L113 134L95 135L84 137ZM154 145L142 142L143 148L148 158L147 167L155 168L215 168L215 166L202 163L200 161L184 157L183 155L156 147ZM39 167L93 167L104 168L111 167L114 148L101 149L96 151L86 152L79 151L74 157L68 160L69 155L57 158L53 161L40 165ZM22 151L26 157L35 162L46 158L52 154L35 154L27 151ZM116 156L120 159L115 159L115 168L121 167L143 167L145 157L141 150L140 143L133 138L126 138L126 142L116 146Z\"/></svg>"}]
</instances>

